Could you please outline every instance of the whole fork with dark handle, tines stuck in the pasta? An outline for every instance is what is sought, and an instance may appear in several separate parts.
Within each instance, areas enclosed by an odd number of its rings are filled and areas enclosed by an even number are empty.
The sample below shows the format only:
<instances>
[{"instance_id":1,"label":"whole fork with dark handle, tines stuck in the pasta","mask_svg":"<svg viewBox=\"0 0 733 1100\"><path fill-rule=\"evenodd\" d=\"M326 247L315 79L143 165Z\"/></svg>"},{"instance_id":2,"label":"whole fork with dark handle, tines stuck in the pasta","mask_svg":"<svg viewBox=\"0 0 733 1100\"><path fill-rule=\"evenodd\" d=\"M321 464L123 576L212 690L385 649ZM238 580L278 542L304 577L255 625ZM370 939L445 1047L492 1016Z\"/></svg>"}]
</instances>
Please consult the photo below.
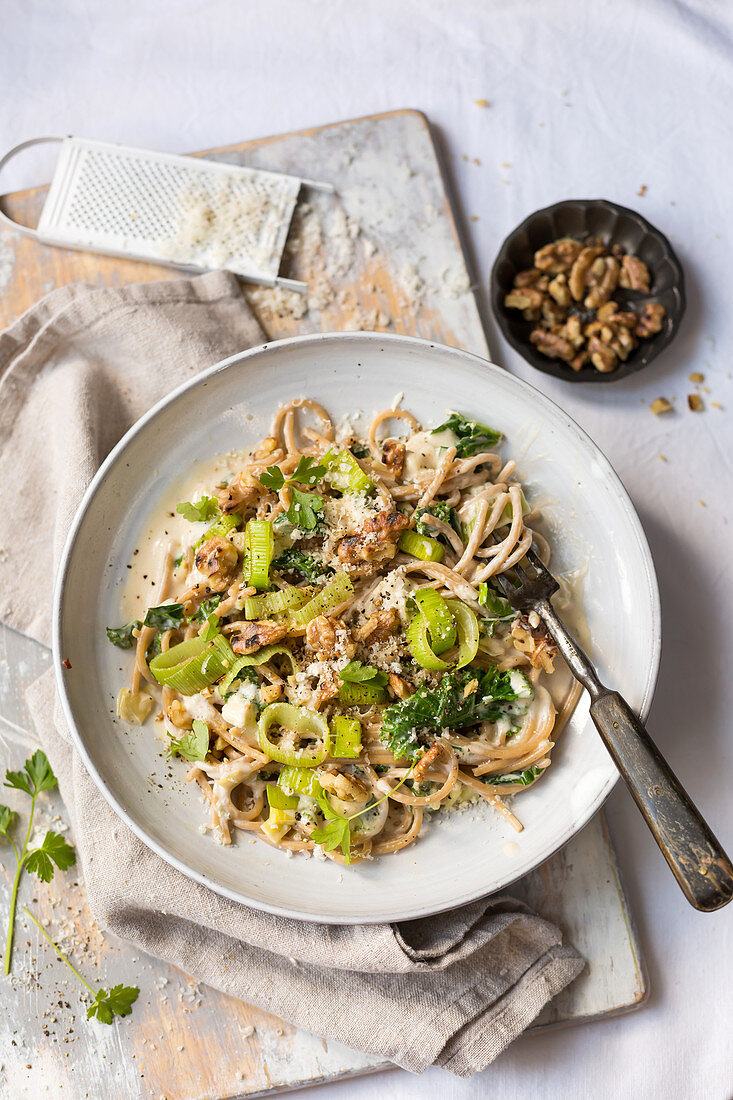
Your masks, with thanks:
<instances>
[{"instance_id":1,"label":"whole fork with dark handle, tines stuck in the pasta","mask_svg":"<svg viewBox=\"0 0 733 1100\"><path fill-rule=\"evenodd\" d=\"M521 612L534 610L591 697L590 714L613 762L691 905L710 913L733 899L733 866L628 703L598 673L550 604L559 585L533 549L495 575Z\"/></svg>"}]
</instances>

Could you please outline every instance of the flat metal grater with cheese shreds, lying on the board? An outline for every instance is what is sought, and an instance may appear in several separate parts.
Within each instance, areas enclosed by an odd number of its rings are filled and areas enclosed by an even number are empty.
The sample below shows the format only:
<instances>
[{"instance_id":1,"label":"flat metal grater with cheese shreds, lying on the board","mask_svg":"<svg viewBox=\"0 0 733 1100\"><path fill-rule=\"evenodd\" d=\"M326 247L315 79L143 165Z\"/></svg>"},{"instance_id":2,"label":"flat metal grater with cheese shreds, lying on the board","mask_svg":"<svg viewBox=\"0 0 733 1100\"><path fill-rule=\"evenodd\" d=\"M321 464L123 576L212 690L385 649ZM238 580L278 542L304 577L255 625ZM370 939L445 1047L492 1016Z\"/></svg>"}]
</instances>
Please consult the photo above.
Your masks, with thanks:
<instances>
[{"instance_id":1,"label":"flat metal grater with cheese shreds, lying on the board","mask_svg":"<svg viewBox=\"0 0 733 1100\"><path fill-rule=\"evenodd\" d=\"M35 229L0 220L45 244L187 271L226 270L251 283L305 292L280 266L302 187L330 184L201 157L153 153L83 138L35 138L61 151Z\"/></svg>"}]
</instances>

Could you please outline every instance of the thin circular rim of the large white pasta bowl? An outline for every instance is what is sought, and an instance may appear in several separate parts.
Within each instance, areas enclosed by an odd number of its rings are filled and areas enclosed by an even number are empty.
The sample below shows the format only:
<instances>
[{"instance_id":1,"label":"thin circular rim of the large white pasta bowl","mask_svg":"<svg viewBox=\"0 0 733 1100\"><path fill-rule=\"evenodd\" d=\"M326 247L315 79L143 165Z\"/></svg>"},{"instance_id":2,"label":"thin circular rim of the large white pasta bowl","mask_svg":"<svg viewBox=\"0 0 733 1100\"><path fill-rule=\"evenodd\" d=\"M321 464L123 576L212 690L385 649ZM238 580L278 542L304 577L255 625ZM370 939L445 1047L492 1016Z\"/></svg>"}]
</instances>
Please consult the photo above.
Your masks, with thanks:
<instances>
[{"instance_id":1,"label":"thin circular rim of the large white pasta bowl","mask_svg":"<svg viewBox=\"0 0 733 1100\"><path fill-rule=\"evenodd\" d=\"M508 875L506 878L496 882L490 890L486 890L483 886L479 889L471 888L464 890L462 893L458 894L456 898L451 899L450 902L441 905L428 905L426 908L414 906L413 909L400 909L395 912L390 912L386 915L382 914L378 917L365 915L349 915L335 921L332 915L325 914L314 914L314 913L299 913L297 910L288 909L285 905L270 904L261 900L253 900L245 897L237 890L229 889L219 882L210 879L206 873L195 870L193 867L187 866L182 859L173 856L168 853L162 843L158 843L154 837L152 837L147 831L135 821L133 821L131 814L120 804L118 799L114 796L112 790L107 785L107 782L101 774L100 770L96 767L89 751L86 748L84 737L79 727L77 726L74 711L72 707L72 702L69 695L66 691L65 681L65 668L64 659L62 656L62 628L63 628L63 615L64 615L64 600L66 592L66 579L67 573L70 568L72 559L75 551L76 540L79 535L83 521L85 519L86 513L91 506L97 493L99 492L108 472L111 468L119 461L119 459L124 454L130 442L139 436L141 432L145 431L147 426L155 420L163 409L167 408L169 405L175 404L184 394L187 394L190 389L205 384L209 378L215 375L226 372L232 366L236 366L242 362L248 362L251 359L260 356L276 355L281 351L293 346L300 346L307 344L317 344L321 342L329 343L341 343L344 345L349 344L360 344L360 343L401 343L404 346L413 348L422 351L439 351L441 354L447 355L457 361L457 364L461 364L464 369L472 370L477 375L485 375L485 372L496 373L501 376L503 381L508 380L510 384L515 385L521 392L528 395L532 400L538 403L539 406L544 406L545 409L551 411L554 415L560 415L565 418L567 425L571 430L577 432L578 437L587 446L595 452L598 461L603 470L604 475L612 483L620 503L622 504L624 510L626 512L626 518L630 522L630 529L633 530L636 542L641 550L641 556L644 563L645 571L645 586L648 587L649 594L649 609L652 616L652 637L650 637L650 663L648 669L648 674L646 682L644 684L644 693L642 704L639 706L639 716L642 721L646 721L652 706L652 701L654 697L654 691L657 682L659 662L661 656L661 615L660 615L660 602L659 602L659 590L657 583L657 576L654 569L654 562L652 558L652 552L644 534L641 520L636 514L633 506L631 497L626 492L621 479L611 465L611 462L601 451L597 443L590 438L590 436L570 417L559 405L553 402L549 397L543 394L540 391L536 389L530 383L525 382L522 378L517 378L515 375L510 374L503 367L497 366L488 360L482 359L480 355L475 355L472 352L463 351L458 348L451 348L447 344L441 344L437 341L425 340L418 337L403 336L398 333L384 333L384 332L319 332L311 333L307 336L288 337L283 340L269 341L263 344L258 344L254 348L249 348L245 351L237 352L233 355L229 355L227 359L220 360L212 366L201 371L199 374L194 375L193 378L187 380L177 386L169 394L165 395L161 400L156 402L142 417L140 417L122 436L119 442L112 448L107 458L103 460L97 473L89 483L81 502L77 508L74 516L74 520L69 528L68 535L66 537L64 549L58 564L58 571L56 574L56 580L54 584L54 597L53 597L53 623L52 623L52 637L53 637L53 664L56 674L56 685L62 701L62 707L66 723L68 725L72 741L75 750L79 754L85 768L91 776L97 788L107 800L108 804L117 813L120 820L146 845L152 851L158 855L169 866L175 867L176 870L180 871L188 879L200 883L204 887L212 890L220 897L228 898L229 900L237 902L239 904L251 906L258 909L262 912L272 913L276 916L286 916L298 921L304 921L306 923L322 923L322 924L376 924L376 923L393 923L406 920L416 920L423 916L431 916L437 913L448 912L459 905L468 904L470 902L478 901L481 898L486 898L496 891L504 890L510 887L513 882L518 879L524 878L525 875L530 873L530 871L536 870L537 867L541 866L549 859L555 853L559 851L569 840L571 840L584 825L594 816L594 814L601 809L606 798L615 787L619 780L619 773L615 776L609 776L608 780L599 789L595 798L586 807L586 810L578 815L573 824L568 828L567 834L558 843L554 844L548 849L543 849L532 867L523 868L516 875Z\"/></svg>"}]
</instances>

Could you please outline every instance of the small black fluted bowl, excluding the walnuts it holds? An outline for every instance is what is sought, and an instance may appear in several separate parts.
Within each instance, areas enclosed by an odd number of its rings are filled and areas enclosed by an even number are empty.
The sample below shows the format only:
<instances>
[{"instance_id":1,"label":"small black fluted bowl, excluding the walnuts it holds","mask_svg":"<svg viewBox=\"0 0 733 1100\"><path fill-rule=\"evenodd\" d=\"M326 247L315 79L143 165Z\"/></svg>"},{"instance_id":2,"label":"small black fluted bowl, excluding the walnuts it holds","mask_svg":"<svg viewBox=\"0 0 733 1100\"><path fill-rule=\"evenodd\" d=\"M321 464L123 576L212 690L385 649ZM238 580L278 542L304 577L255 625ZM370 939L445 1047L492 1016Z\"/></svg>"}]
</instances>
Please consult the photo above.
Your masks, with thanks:
<instances>
[{"instance_id":1,"label":"small black fluted bowl, excluding the walnuts it holds","mask_svg":"<svg viewBox=\"0 0 733 1100\"><path fill-rule=\"evenodd\" d=\"M573 371L559 359L541 355L529 342L536 322L525 321L518 310L504 306L504 297L512 289L517 272L532 267L537 249L558 237L578 240L598 237L606 246L620 244L624 251L638 256L649 268L650 292L644 295L624 290L624 301L630 305L658 301L665 307L661 331L648 340L641 340L626 362L608 374L597 371L590 363L581 371ZM619 382L650 363L674 339L685 314L685 276L667 238L641 213L608 199L566 199L536 210L506 238L491 272L491 302L508 342L538 371L566 382Z\"/></svg>"}]
</instances>

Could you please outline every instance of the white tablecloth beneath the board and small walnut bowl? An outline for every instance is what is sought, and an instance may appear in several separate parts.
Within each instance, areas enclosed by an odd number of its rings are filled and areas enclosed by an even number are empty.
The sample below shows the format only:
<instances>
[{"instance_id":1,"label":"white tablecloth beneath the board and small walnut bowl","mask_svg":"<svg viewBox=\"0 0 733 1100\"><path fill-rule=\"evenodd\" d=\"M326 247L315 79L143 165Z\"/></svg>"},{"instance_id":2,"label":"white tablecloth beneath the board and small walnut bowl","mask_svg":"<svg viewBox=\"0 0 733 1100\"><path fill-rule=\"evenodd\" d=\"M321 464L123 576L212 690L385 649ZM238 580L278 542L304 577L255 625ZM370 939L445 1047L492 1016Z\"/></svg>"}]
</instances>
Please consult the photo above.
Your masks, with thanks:
<instances>
[{"instance_id":1,"label":"white tablecloth beneath the board and small walnut bowl","mask_svg":"<svg viewBox=\"0 0 733 1100\"><path fill-rule=\"evenodd\" d=\"M2 12L2 148L66 132L180 152L417 107L438 128L483 288L505 233L561 198L615 199L670 237L688 312L641 376L568 386L532 371L491 326L490 338L501 363L590 432L634 499L664 615L650 729L733 849L733 7L4 0ZM19 164L0 190L45 175ZM692 371L709 388L698 414L687 410ZM652 415L659 395L675 398L674 415ZM609 816L649 965L644 1009L522 1040L469 1082L395 1070L303 1096L727 1100L733 908L688 908L625 791L612 795Z\"/></svg>"}]
</instances>

